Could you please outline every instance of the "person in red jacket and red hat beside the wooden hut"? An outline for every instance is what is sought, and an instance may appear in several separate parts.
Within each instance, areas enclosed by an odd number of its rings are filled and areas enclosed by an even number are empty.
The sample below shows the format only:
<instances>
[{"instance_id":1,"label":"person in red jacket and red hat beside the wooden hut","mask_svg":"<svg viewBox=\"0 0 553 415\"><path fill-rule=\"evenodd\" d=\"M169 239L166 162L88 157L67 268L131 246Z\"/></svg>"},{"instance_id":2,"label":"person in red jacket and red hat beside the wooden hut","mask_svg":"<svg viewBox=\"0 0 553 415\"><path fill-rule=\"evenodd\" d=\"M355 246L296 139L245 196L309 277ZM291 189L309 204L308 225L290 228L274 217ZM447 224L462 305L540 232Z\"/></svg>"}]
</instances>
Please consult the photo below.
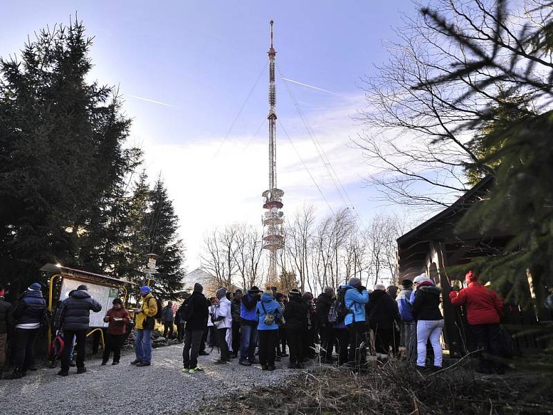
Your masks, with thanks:
<instances>
[{"instance_id":1,"label":"person in red jacket and red hat beside the wooden hut","mask_svg":"<svg viewBox=\"0 0 553 415\"><path fill-rule=\"evenodd\" d=\"M499 321L503 315L503 301L494 291L482 286L478 282L478 275L472 270L465 275L465 280L467 288L460 291L452 290L449 299L453 306L465 306L467 321L476 340L476 346L482 350L478 371L491 374L495 360L496 372L503 374L503 365L493 357L499 356Z\"/></svg>"}]
</instances>

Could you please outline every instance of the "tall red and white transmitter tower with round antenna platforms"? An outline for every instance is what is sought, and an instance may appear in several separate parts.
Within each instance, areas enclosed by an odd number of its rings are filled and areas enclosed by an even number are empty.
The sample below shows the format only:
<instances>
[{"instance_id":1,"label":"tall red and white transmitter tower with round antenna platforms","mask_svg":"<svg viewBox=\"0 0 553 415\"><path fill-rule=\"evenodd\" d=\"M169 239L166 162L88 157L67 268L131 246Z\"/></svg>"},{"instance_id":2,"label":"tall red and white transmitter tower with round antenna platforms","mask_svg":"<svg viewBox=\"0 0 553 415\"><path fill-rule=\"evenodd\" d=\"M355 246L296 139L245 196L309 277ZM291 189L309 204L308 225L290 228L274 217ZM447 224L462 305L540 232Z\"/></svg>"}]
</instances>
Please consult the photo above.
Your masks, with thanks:
<instances>
[{"instance_id":1,"label":"tall red and white transmitter tower with round antenna platforms","mask_svg":"<svg viewBox=\"0 0 553 415\"><path fill-rule=\"evenodd\" d=\"M284 247L282 224L284 212L282 196L284 192L277 188L277 89L274 86L274 57L277 52L273 47L273 24L271 25L271 46L269 48L269 189L263 192L265 198L263 208L267 210L263 218L265 232L263 232L263 249L269 251L268 282L277 282L277 251Z\"/></svg>"}]
</instances>

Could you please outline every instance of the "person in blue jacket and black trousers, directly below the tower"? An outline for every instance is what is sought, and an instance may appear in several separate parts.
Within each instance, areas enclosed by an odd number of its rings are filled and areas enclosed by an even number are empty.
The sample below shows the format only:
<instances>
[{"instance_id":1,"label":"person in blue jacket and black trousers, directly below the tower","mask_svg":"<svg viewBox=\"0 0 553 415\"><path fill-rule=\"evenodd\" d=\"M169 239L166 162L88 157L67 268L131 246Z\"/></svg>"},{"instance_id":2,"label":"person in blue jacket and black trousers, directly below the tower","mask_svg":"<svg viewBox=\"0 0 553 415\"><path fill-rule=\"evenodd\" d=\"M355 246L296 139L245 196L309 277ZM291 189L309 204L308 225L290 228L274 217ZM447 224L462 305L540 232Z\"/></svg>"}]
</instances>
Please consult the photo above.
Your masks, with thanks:
<instances>
[{"instance_id":1,"label":"person in blue jacket and black trousers, directly below the tower","mask_svg":"<svg viewBox=\"0 0 553 415\"><path fill-rule=\"evenodd\" d=\"M279 322L282 318L280 304L275 301L272 291L265 290L261 301L256 305L259 315L257 333L259 335L259 362L263 370L274 370L274 356L278 338Z\"/></svg>"}]
</instances>

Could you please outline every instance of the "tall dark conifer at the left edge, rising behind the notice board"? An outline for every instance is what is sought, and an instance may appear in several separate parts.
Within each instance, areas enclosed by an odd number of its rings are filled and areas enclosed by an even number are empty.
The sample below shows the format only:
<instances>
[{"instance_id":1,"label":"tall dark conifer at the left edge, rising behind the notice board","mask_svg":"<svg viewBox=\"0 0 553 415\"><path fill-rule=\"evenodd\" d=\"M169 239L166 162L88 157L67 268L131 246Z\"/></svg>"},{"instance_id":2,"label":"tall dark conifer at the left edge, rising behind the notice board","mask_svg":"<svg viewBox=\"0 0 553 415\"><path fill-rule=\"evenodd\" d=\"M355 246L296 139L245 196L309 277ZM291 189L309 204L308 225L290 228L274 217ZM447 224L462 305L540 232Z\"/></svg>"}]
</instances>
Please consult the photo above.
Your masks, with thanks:
<instances>
[{"instance_id":1,"label":"tall dark conifer at the left edge, rising behind the notice board","mask_svg":"<svg viewBox=\"0 0 553 415\"><path fill-rule=\"evenodd\" d=\"M129 168L130 120L113 89L86 81L91 44L75 21L41 30L21 61L0 59L0 283L12 293L46 262L82 264L93 210Z\"/></svg>"}]
</instances>

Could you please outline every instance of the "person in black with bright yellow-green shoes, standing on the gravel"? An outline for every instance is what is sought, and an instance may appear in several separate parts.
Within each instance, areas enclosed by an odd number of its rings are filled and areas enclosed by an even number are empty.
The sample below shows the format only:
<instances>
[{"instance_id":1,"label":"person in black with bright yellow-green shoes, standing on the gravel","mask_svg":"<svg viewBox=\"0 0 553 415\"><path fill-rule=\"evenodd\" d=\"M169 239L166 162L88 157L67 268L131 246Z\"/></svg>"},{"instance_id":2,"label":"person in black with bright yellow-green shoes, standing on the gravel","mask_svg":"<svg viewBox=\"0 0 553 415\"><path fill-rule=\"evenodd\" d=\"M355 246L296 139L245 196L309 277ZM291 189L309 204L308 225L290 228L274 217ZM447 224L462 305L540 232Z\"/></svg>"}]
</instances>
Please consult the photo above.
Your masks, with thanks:
<instances>
[{"instance_id":1,"label":"person in black with bright yellow-green shoes, standing on the gravel","mask_svg":"<svg viewBox=\"0 0 553 415\"><path fill-rule=\"evenodd\" d=\"M203 295L203 286L194 284L194 291L180 308L180 317L185 324L185 347L182 349L182 371L189 374L202 372L198 367L198 353L203 333L207 327L209 302Z\"/></svg>"}]
</instances>

